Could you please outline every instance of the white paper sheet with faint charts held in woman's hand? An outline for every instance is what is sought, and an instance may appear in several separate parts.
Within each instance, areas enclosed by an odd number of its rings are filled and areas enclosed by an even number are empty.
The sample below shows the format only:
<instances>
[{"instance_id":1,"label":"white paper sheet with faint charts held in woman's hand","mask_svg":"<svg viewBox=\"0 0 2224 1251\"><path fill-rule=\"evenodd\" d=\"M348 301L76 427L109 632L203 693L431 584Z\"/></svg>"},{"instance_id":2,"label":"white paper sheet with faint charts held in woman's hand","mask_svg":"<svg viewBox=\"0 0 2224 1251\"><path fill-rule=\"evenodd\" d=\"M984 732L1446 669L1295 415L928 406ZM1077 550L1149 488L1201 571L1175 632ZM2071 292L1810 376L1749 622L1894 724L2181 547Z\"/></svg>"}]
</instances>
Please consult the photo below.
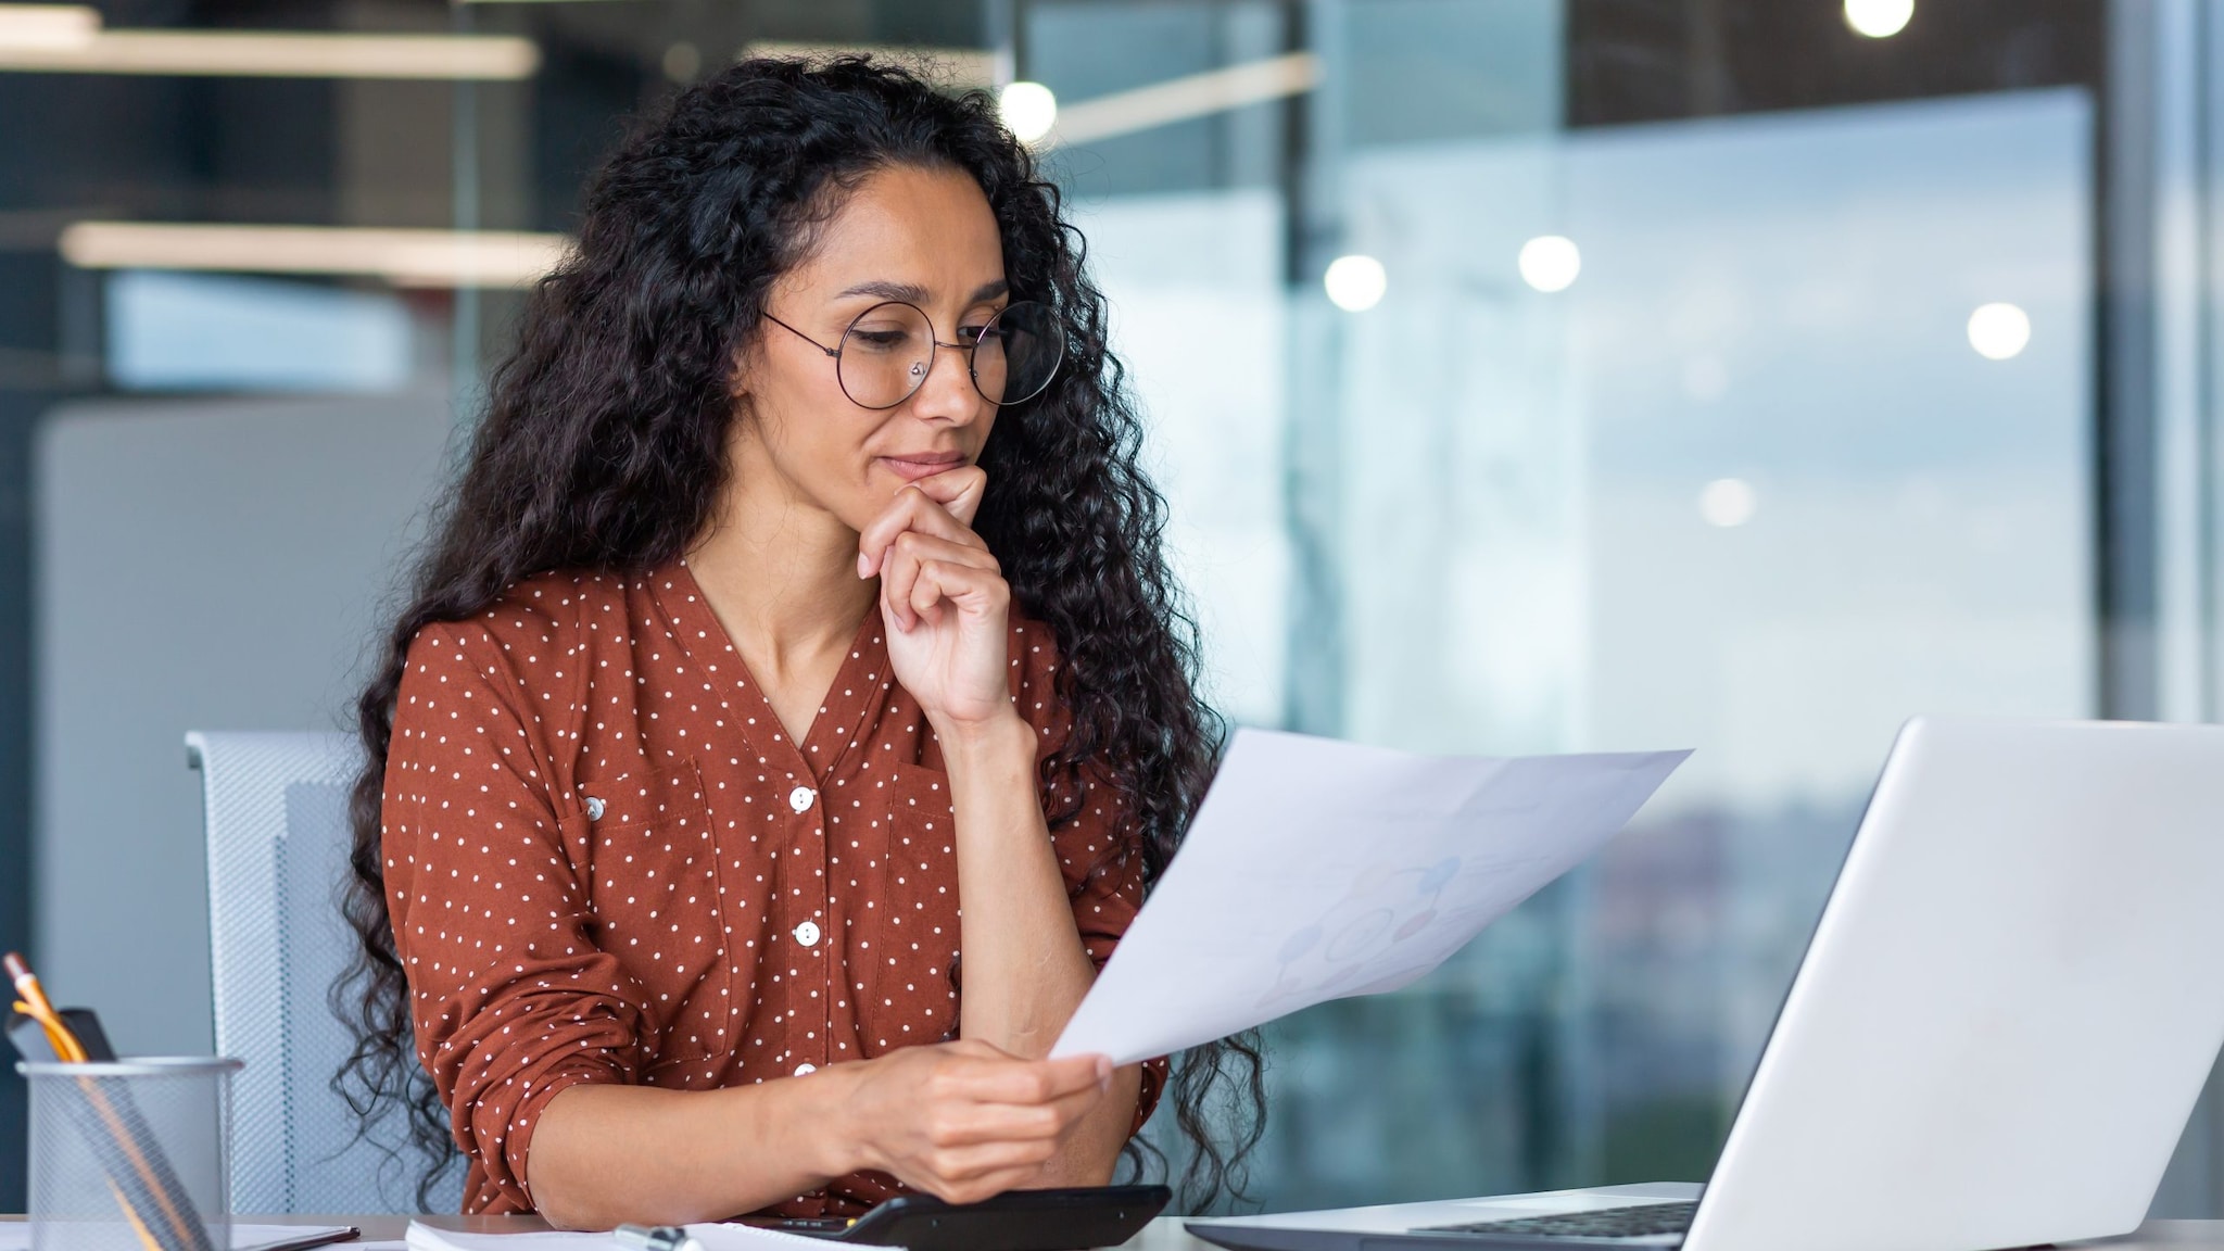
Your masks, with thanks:
<instances>
[{"instance_id":1,"label":"white paper sheet with faint charts held in woman's hand","mask_svg":"<svg viewBox=\"0 0 2224 1251\"><path fill-rule=\"evenodd\" d=\"M1397 991L1599 850L1688 755L1419 757L1237 730L1052 1055L1134 1064Z\"/></svg>"}]
</instances>

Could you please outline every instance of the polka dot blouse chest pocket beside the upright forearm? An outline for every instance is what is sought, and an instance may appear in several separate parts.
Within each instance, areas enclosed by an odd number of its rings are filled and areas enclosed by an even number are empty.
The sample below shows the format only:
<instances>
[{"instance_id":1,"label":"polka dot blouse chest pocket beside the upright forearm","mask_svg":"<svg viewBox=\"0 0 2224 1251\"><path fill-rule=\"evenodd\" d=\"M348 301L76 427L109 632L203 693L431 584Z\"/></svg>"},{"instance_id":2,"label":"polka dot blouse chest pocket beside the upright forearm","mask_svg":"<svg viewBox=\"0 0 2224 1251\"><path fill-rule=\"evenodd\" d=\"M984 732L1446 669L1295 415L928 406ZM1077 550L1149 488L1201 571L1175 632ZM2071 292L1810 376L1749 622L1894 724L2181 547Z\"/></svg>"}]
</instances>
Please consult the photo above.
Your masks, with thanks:
<instances>
[{"instance_id":1,"label":"polka dot blouse chest pocket beside the upright forearm","mask_svg":"<svg viewBox=\"0 0 2224 1251\"><path fill-rule=\"evenodd\" d=\"M867 1046L943 1042L959 1028L959 837L950 777L912 764L887 779L874 893Z\"/></svg>"}]
</instances>

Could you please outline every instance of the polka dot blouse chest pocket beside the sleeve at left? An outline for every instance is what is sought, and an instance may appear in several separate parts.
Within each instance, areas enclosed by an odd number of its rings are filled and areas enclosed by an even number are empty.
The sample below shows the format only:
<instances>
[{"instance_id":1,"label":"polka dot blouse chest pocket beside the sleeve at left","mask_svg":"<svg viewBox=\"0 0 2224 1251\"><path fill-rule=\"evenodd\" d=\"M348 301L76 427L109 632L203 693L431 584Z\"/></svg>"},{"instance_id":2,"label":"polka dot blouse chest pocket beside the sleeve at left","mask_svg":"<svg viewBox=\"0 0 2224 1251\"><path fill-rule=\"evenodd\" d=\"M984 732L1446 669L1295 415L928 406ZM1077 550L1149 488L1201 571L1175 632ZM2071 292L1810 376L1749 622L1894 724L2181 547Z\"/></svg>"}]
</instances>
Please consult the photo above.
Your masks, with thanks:
<instances>
[{"instance_id":1,"label":"polka dot blouse chest pocket beside the sleeve at left","mask_svg":"<svg viewBox=\"0 0 2224 1251\"><path fill-rule=\"evenodd\" d=\"M658 1062L727 1046L718 844L689 759L580 781L589 933L641 984Z\"/></svg>"}]
</instances>

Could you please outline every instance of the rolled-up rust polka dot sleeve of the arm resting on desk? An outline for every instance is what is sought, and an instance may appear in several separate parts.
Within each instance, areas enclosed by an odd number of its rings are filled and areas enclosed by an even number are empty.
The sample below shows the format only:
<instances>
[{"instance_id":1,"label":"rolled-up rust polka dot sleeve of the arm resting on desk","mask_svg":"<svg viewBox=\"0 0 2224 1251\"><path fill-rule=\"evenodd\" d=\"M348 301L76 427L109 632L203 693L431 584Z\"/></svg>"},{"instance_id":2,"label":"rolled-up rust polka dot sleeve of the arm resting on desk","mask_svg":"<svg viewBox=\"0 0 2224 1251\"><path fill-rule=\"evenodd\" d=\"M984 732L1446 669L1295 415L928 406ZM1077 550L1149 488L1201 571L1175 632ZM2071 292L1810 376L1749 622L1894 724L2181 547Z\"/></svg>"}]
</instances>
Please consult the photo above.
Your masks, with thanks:
<instances>
[{"instance_id":1,"label":"rolled-up rust polka dot sleeve of the arm resting on desk","mask_svg":"<svg viewBox=\"0 0 2224 1251\"><path fill-rule=\"evenodd\" d=\"M425 628L394 708L383 857L418 1057L471 1162L465 1211L529 1211L525 1160L558 1091L634 1082L641 986L603 953L585 817L560 812L538 717L474 623Z\"/></svg>"}]
</instances>

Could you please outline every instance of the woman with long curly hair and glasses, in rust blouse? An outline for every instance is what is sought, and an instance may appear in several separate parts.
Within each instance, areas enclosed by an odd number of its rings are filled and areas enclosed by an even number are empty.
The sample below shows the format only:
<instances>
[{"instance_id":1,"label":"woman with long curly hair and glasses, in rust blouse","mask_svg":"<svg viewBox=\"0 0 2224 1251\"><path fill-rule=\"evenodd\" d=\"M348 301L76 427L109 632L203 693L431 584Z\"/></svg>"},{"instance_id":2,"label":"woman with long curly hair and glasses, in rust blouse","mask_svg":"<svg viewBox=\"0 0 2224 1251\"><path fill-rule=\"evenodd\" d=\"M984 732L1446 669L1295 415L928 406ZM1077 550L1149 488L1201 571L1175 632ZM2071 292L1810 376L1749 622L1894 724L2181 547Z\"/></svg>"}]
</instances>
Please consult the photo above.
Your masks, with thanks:
<instances>
[{"instance_id":1,"label":"woman with long curly hair and glasses, in rust blouse","mask_svg":"<svg viewBox=\"0 0 2224 1251\"><path fill-rule=\"evenodd\" d=\"M465 1211L1110 1180L1165 1064L1045 1055L1214 737L1103 332L901 69L743 62L596 178L360 703L349 1075Z\"/></svg>"}]
</instances>

